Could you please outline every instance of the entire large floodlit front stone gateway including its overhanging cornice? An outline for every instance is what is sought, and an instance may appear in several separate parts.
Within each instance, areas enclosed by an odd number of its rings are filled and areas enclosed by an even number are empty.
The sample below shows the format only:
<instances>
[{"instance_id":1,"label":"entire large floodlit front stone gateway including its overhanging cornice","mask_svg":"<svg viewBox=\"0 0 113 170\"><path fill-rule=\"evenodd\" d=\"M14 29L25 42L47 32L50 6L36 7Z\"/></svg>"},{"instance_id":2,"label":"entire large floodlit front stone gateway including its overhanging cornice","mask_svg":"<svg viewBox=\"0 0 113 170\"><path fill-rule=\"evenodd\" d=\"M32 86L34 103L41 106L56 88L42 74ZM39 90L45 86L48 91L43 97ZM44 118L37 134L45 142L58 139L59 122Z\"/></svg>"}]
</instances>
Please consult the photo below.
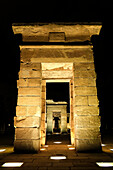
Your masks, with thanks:
<instances>
[{"instance_id":1,"label":"entire large floodlit front stone gateway including its overhanging cornice","mask_svg":"<svg viewBox=\"0 0 113 170\"><path fill-rule=\"evenodd\" d=\"M99 103L91 37L99 34L101 25L35 23L13 24L12 28L15 35L22 35L14 118L15 151L38 151L45 144L46 131L52 131L52 126L46 126L51 107L46 109L47 82L69 83L70 138L76 151L100 150ZM49 116L61 121L62 108L57 107ZM66 132L65 113L62 118L63 124L59 126ZM52 120L49 118L48 124Z\"/></svg>"}]
</instances>

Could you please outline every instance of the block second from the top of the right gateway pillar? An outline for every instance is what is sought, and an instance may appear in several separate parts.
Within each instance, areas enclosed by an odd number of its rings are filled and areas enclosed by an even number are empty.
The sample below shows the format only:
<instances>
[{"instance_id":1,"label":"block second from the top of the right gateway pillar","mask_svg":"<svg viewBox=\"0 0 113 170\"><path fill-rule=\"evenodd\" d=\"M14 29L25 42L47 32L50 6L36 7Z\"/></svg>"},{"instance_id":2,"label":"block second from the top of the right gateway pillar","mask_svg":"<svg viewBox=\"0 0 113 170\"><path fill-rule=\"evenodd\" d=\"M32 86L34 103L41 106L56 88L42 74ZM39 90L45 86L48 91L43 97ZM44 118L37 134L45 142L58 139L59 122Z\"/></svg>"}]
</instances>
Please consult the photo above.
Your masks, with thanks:
<instances>
[{"instance_id":1,"label":"block second from the top of the right gateway pillar","mask_svg":"<svg viewBox=\"0 0 113 170\"><path fill-rule=\"evenodd\" d=\"M88 78L96 78L96 73L94 70L75 70L74 77L88 77Z\"/></svg>"}]
</instances>

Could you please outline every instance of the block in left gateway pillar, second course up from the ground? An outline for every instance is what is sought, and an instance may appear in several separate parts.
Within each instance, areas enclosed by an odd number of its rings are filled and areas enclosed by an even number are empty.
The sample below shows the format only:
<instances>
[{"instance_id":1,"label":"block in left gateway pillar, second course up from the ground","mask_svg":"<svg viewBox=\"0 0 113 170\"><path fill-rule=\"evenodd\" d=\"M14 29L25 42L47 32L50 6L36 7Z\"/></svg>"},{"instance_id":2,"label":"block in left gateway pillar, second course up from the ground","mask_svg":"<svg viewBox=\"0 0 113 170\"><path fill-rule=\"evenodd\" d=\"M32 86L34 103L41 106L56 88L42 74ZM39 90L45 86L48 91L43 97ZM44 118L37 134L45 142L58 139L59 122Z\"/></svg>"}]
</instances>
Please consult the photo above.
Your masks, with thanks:
<instances>
[{"instance_id":1,"label":"block in left gateway pillar, second course up from the ground","mask_svg":"<svg viewBox=\"0 0 113 170\"><path fill-rule=\"evenodd\" d=\"M16 128L15 138L18 139L40 139L40 128Z\"/></svg>"}]
</instances>

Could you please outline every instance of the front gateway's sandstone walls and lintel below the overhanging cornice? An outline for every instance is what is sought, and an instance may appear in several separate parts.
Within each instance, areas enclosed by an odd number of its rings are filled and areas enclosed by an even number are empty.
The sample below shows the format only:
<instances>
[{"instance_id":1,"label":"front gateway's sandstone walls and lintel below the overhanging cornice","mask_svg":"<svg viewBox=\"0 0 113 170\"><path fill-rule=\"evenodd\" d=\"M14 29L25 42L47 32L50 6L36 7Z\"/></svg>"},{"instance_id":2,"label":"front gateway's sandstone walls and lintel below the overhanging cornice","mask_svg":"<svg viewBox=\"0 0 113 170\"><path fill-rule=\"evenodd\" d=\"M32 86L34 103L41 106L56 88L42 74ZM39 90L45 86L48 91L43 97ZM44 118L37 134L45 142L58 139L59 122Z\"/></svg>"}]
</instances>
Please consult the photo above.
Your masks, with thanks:
<instances>
[{"instance_id":1,"label":"front gateway's sandstone walls and lintel below the overhanging cornice","mask_svg":"<svg viewBox=\"0 0 113 170\"><path fill-rule=\"evenodd\" d=\"M76 150L100 150L100 117L92 46L21 46L20 49L15 150L38 151L45 143L46 79L69 79L71 82L71 143ZM42 63L72 63L73 70L42 71ZM52 116L49 121L51 124Z\"/></svg>"}]
</instances>

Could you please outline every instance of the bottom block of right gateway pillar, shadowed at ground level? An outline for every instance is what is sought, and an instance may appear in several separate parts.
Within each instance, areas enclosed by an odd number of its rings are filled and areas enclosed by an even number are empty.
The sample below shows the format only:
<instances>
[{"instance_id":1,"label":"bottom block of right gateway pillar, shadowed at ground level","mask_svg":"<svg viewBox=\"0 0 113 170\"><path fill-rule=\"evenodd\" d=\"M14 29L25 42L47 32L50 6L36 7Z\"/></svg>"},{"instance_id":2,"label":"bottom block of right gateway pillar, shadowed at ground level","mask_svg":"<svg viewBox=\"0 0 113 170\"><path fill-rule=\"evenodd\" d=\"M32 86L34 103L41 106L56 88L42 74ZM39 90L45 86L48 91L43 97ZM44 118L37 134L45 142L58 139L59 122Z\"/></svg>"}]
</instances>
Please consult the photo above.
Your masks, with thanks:
<instances>
[{"instance_id":1,"label":"bottom block of right gateway pillar, shadowed at ground level","mask_svg":"<svg viewBox=\"0 0 113 170\"><path fill-rule=\"evenodd\" d=\"M75 139L77 152L101 151L101 140L97 139Z\"/></svg>"}]
</instances>

